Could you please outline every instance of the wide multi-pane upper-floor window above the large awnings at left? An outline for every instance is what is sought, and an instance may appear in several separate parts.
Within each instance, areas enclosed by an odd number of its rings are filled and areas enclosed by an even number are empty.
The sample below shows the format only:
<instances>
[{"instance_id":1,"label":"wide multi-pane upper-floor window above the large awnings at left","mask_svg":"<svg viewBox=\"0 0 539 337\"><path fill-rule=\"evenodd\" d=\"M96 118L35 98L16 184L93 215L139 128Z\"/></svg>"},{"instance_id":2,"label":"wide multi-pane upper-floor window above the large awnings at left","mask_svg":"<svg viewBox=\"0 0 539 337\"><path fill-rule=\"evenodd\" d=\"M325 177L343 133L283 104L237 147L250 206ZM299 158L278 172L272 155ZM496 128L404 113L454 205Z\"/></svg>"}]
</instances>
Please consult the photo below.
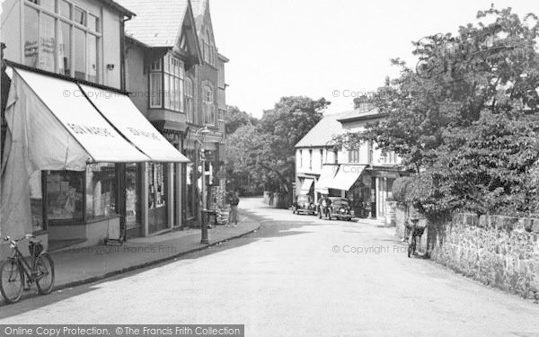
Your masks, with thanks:
<instances>
[{"instance_id":1,"label":"wide multi-pane upper-floor window above the large awnings at left","mask_svg":"<svg viewBox=\"0 0 539 337\"><path fill-rule=\"evenodd\" d=\"M66 0L27 0L24 64L99 82L100 17Z\"/></svg>"}]
</instances>

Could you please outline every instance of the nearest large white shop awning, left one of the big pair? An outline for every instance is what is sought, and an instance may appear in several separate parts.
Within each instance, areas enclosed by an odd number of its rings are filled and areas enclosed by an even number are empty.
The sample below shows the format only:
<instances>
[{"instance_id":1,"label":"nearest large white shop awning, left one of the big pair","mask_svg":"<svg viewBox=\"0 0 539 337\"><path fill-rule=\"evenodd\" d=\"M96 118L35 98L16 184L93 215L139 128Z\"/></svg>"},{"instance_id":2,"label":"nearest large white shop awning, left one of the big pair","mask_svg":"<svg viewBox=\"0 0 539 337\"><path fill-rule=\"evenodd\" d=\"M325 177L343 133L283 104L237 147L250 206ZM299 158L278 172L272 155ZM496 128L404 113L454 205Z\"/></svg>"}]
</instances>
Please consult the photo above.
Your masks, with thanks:
<instances>
[{"instance_id":1,"label":"nearest large white shop awning, left one of the big pair","mask_svg":"<svg viewBox=\"0 0 539 337\"><path fill-rule=\"evenodd\" d=\"M35 142L53 141L49 148L49 154L56 156L60 161L68 162L68 156L84 149L87 155L86 162L101 163L135 163L147 162L150 158L138 151L122 137L107 120L103 119L99 111L84 97L79 87L74 82L66 81L57 77L41 75L27 70L14 68L14 73L22 78L27 84L25 95L32 93L37 97L29 111L26 109L27 120L42 125L45 137L35 137ZM50 116L54 118L50 118ZM68 135L63 141L66 142L66 151L54 148L54 140L57 135ZM32 150L32 149L30 149ZM80 155L77 155L80 158ZM78 164L81 166L81 164ZM70 165L66 163L66 168ZM84 170L84 167L79 167Z\"/></svg>"}]
</instances>

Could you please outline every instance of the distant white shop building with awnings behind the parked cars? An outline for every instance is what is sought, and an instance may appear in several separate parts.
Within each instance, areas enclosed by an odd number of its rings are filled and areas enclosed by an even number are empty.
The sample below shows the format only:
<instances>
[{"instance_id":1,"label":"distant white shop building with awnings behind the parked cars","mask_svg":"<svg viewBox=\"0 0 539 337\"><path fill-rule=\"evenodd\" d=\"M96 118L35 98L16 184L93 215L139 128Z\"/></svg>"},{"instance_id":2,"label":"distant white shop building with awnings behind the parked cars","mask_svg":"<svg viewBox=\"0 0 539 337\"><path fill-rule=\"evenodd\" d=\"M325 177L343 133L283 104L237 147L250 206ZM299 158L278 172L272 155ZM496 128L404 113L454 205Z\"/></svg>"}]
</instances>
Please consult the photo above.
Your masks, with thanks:
<instances>
[{"instance_id":1,"label":"distant white shop building with awnings behind the parked cars","mask_svg":"<svg viewBox=\"0 0 539 337\"><path fill-rule=\"evenodd\" d=\"M312 180L315 200L322 194L348 198L356 216L384 218L393 182L402 173L401 159L371 142L351 149L333 142L334 136L361 132L384 117L376 108L324 117L296 145L296 193L307 191Z\"/></svg>"}]
</instances>

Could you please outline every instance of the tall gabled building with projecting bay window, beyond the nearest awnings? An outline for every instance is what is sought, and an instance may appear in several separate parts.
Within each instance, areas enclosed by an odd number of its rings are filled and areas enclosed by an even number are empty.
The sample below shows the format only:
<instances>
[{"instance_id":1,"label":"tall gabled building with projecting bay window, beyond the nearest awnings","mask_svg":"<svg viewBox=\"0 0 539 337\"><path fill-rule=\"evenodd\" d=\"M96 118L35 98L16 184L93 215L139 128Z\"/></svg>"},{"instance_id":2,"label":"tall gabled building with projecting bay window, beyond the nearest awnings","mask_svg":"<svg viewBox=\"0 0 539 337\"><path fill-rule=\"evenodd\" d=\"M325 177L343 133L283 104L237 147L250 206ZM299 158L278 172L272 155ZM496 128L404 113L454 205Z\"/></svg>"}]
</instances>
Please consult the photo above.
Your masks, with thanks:
<instances>
[{"instance_id":1,"label":"tall gabled building with projecting bay window, beyond the nearest awnings","mask_svg":"<svg viewBox=\"0 0 539 337\"><path fill-rule=\"evenodd\" d=\"M201 200L220 183L216 173L225 145L219 108L225 107L228 60L217 53L208 1L120 3L137 13L126 22L127 90L155 128L190 159L146 167L150 234L199 224Z\"/></svg>"}]
</instances>

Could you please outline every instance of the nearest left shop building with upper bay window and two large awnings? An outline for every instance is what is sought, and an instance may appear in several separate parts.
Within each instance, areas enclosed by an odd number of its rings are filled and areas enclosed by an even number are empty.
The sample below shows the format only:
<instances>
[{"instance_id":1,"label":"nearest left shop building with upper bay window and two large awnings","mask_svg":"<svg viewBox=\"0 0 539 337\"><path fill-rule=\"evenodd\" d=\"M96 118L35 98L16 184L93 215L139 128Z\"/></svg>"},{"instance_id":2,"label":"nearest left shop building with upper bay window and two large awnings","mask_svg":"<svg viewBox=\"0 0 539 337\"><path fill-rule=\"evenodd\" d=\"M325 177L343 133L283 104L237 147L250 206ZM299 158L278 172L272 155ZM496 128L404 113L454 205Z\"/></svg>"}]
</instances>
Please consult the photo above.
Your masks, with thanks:
<instances>
[{"instance_id":1,"label":"nearest left shop building with upper bay window and two large awnings","mask_svg":"<svg viewBox=\"0 0 539 337\"><path fill-rule=\"evenodd\" d=\"M3 6L0 235L33 233L49 249L125 239L129 223L145 226L141 168L188 162L124 91L135 14L110 0Z\"/></svg>"}]
</instances>

